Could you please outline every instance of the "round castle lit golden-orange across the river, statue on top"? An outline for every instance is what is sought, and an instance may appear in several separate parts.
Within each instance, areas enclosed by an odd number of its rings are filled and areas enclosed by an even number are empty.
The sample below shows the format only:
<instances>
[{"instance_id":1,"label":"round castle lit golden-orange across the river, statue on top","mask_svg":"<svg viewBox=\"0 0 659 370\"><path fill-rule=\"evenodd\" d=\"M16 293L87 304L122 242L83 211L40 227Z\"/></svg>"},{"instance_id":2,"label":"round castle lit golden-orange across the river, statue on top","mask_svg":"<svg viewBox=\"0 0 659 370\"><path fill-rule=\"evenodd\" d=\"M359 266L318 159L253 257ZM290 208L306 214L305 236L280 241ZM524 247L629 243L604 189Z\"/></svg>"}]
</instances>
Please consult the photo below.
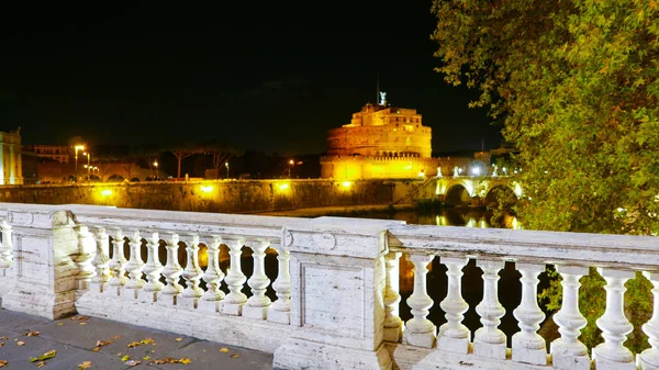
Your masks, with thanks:
<instances>
[{"instance_id":1,"label":"round castle lit golden-orange across the river, statue on top","mask_svg":"<svg viewBox=\"0 0 659 370\"><path fill-rule=\"evenodd\" d=\"M417 178L435 176L431 158L431 127L422 125L414 109L366 104L349 124L327 133L327 156L321 158L322 177L334 179Z\"/></svg>"}]
</instances>

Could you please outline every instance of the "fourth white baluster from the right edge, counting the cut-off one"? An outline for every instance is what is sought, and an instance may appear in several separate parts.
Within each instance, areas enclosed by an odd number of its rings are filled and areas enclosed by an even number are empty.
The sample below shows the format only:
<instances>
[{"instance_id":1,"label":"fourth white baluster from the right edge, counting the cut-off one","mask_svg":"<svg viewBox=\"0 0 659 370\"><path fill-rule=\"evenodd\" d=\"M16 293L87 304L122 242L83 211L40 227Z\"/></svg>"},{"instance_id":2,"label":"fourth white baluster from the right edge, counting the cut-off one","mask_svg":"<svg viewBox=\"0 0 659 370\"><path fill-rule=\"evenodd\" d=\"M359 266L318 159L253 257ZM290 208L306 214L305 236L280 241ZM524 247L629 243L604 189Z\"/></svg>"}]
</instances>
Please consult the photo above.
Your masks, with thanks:
<instances>
[{"instance_id":1,"label":"fourth white baluster from the right edge, counting the cut-off one","mask_svg":"<svg viewBox=\"0 0 659 370\"><path fill-rule=\"evenodd\" d=\"M545 313L538 306L538 274L545 271L544 265L517 264L522 273L522 302L513 311L522 332L513 335L513 361L547 365L545 339L538 335Z\"/></svg>"}]
</instances>

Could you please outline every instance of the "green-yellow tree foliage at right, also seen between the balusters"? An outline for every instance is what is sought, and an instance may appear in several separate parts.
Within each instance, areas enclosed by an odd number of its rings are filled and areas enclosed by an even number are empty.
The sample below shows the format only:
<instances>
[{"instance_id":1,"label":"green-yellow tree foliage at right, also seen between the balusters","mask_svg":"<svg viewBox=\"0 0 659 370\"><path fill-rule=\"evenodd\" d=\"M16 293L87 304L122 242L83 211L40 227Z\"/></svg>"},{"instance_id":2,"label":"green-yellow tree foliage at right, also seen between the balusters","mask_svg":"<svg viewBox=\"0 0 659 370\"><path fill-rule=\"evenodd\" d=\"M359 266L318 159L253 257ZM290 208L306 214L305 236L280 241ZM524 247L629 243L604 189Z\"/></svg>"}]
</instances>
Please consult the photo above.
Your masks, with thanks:
<instances>
[{"instance_id":1,"label":"green-yellow tree foliage at right, also seen between the balusters","mask_svg":"<svg viewBox=\"0 0 659 370\"><path fill-rule=\"evenodd\" d=\"M432 10L437 70L479 89L470 104L489 108L520 150L525 198L516 211L525 227L656 235L659 2L435 0ZM582 283L592 346L604 304L592 296L603 282L592 273ZM647 280L627 287L629 300L650 302ZM545 292L550 307L559 306L559 288ZM637 324L627 343L635 350L647 346L635 340Z\"/></svg>"}]
</instances>

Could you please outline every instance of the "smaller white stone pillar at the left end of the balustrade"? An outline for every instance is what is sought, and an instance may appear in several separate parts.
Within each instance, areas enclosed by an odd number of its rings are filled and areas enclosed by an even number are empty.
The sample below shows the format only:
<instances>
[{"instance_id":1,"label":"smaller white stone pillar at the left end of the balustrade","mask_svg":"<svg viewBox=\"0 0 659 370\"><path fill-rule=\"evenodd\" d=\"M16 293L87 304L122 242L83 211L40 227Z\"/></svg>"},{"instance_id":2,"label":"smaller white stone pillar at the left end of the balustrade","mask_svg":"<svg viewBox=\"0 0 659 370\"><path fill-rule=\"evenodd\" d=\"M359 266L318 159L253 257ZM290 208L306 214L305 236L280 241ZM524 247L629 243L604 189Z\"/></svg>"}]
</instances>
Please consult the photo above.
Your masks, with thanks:
<instances>
[{"instance_id":1,"label":"smaller white stone pillar at the left end of the balustrade","mask_svg":"<svg viewBox=\"0 0 659 370\"><path fill-rule=\"evenodd\" d=\"M48 319L75 313L79 248L70 213L25 205L9 210L7 221L13 231L15 284L2 307Z\"/></svg>"}]
</instances>

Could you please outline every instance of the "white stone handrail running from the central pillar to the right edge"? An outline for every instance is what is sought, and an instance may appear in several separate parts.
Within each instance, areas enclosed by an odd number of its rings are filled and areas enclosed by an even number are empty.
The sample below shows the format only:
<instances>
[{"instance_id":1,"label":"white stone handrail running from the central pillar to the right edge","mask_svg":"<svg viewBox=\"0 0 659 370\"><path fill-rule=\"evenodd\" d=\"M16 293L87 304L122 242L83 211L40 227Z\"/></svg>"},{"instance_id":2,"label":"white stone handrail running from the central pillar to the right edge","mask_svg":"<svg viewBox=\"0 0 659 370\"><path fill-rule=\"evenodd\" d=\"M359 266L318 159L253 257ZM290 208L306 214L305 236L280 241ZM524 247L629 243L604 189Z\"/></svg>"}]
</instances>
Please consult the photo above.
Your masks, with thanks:
<instances>
[{"instance_id":1,"label":"white stone handrail running from the central pillar to the right edge","mask_svg":"<svg viewBox=\"0 0 659 370\"><path fill-rule=\"evenodd\" d=\"M389 248L520 262L659 269L659 238L655 236L394 225L389 227Z\"/></svg>"}]
</instances>

